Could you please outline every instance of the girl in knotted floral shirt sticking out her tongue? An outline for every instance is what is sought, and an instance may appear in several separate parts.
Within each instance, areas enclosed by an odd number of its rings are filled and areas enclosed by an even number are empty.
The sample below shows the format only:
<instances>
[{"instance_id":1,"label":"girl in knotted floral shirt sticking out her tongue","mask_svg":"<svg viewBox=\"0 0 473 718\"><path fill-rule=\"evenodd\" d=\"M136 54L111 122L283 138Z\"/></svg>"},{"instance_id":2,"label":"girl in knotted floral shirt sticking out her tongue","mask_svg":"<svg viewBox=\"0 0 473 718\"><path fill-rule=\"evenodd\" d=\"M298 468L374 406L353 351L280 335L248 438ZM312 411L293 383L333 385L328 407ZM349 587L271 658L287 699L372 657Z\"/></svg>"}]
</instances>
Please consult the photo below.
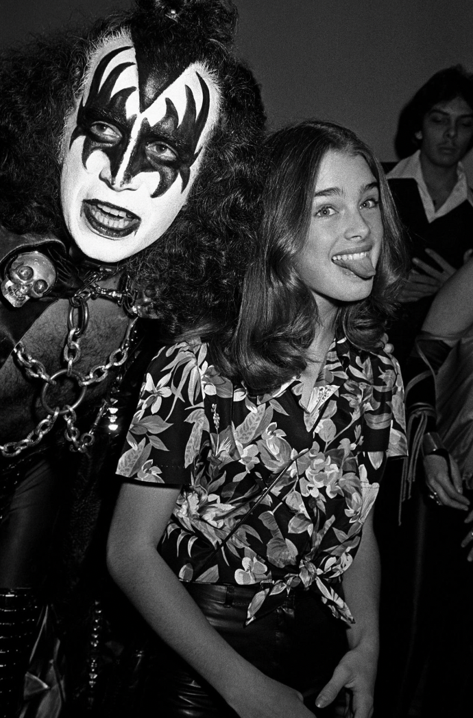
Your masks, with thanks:
<instances>
[{"instance_id":1,"label":"girl in knotted floral shirt sticking out her tongue","mask_svg":"<svg viewBox=\"0 0 473 718\"><path fill-rule=\"evenodd\" d=\"M151 364L108 562L164 642L152 687L166 716L305 718L345 687L368 718L371 508L386 457L404 453L401 378L382 348L401 238L355 134L305 122L268 149L238 326Z\"/></svg>"}]
</instances>

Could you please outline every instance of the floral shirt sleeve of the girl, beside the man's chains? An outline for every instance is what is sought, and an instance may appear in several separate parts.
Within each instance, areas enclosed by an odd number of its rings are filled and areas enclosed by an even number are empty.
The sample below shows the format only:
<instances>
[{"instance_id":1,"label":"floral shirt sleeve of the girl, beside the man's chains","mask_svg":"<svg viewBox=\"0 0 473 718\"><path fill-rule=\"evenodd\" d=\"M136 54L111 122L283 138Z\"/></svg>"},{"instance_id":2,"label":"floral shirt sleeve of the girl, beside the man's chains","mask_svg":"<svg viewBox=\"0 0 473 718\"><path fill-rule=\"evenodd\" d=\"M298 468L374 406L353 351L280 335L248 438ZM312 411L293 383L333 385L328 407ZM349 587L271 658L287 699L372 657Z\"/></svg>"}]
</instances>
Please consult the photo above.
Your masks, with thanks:
<instances>
[{"instance_id":1,"label":"floral shirt sleeve of the girl, beside the man's chains","mask_svg":"<svg viewBox=\"0 0 473 718\"><path fill-rule=\"evenodd\" d=\"M118 462L119 475L191 483L207 423L199 371L204 346L180 342L163 347L148 366Z\"/></svg>"}]
</instances>

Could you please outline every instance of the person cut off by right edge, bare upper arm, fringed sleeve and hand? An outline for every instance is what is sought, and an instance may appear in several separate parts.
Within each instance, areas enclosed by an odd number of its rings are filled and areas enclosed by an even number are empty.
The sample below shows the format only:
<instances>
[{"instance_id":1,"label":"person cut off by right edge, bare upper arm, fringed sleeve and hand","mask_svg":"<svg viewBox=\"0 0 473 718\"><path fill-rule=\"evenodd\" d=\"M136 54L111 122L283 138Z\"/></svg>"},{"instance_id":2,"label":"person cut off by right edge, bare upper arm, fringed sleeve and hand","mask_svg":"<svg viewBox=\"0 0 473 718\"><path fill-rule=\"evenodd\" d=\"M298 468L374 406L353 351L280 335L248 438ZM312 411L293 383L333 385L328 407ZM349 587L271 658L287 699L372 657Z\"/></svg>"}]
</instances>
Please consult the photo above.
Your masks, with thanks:
<instances>
[{"instance_id":1,"label":"person cut off by right edge, bare upper arm, fringed sleeve and hand","mask_svg":"<svg viewBox=\"0 0 473 718\"><path fill-rule=\"evenodd\" d=\"M421 594L422 620L436 624L422 647L423 718L471 710L473 621L461 607L469 605L473 592L472 299L469 261L436 294L407 365L410 478L421 481L423 467L436 517Z\"/></svg>"}]
</instances>

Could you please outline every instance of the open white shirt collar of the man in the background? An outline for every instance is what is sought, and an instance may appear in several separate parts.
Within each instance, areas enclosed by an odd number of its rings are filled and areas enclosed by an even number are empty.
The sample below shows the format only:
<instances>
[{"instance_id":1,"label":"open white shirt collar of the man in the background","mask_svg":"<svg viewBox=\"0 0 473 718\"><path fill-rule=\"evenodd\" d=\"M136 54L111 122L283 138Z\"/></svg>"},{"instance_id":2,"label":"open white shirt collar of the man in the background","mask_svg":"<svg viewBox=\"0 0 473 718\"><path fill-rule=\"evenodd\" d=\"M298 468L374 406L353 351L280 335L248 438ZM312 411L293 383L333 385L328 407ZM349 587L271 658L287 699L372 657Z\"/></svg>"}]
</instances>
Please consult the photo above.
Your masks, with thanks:
<instances>
[{"instance_id":1,"label":"open white shirt collar of the man in the background","mask_svg":"<svg viewBox=\"0 0 473 718\"><path fill-rule=\"evenodd\" d=\"M420 155L421 151L418 149L414 154L411 154L410 157L401 159L401 162L398 162L396 167L393 167L391 172L388 172L387 177L388 180L416 180L417 187L419 187L419 195L421 195L422 204L424 205L426 218L429 223L448 214L465 200L473 207L473 192L468 186L467 174L464 171L462 162L459 162L457 164L457 183L453 190L451 190L446 202L436 210L434 202L429 195L429 190L427 190L424 175L422 174Z\"/></svg>"}]
</instances>

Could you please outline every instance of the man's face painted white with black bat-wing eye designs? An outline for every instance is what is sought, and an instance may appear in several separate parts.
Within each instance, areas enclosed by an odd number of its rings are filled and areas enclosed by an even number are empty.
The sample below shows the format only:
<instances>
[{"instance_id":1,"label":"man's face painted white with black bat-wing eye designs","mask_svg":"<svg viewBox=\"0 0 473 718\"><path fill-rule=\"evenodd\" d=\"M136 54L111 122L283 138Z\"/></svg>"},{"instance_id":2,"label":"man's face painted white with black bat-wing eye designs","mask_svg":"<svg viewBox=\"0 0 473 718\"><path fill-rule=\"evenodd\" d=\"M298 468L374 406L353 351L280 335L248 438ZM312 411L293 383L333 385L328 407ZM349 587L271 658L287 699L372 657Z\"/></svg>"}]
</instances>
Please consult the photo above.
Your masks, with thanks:
<instances>
[{"instance_id":1,"label":"man's face painted white with black bat-wing eye designs","mask_svg":"<svg viewBox=\"0 0 473 718\"><path fill-rule=\"evenodd\" d=\"M137 62L130 39L110 39L92 60L62 145L62 211L82 252L117 262L161 237L218 116L219 89L204 65L164 77Z\"/></svg>"}]
</instances>

